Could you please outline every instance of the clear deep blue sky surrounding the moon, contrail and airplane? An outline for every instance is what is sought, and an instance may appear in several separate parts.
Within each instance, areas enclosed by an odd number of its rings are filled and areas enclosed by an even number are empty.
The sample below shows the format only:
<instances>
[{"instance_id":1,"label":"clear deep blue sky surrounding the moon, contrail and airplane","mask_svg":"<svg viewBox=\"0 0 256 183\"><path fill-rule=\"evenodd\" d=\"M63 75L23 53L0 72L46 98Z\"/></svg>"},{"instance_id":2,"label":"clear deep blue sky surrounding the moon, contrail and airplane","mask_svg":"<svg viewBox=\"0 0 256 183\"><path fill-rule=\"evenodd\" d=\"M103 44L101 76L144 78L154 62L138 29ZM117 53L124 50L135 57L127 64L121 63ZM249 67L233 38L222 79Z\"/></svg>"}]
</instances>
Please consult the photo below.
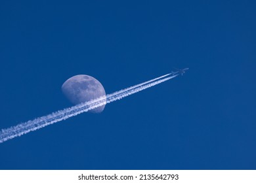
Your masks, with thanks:
<instances>
[{"instance_id":1,"label":"clear deep blue sky surrounding the moon, contrail and airplane","mask_svg":"<svg viewBox=\"0 0 256 183\"><path fill-rule=\"evenodd\" d=\"M184 75L0 144L0 169L256 169L255 1L1 1L0 129Z\"/></svg>"}]
</instances>

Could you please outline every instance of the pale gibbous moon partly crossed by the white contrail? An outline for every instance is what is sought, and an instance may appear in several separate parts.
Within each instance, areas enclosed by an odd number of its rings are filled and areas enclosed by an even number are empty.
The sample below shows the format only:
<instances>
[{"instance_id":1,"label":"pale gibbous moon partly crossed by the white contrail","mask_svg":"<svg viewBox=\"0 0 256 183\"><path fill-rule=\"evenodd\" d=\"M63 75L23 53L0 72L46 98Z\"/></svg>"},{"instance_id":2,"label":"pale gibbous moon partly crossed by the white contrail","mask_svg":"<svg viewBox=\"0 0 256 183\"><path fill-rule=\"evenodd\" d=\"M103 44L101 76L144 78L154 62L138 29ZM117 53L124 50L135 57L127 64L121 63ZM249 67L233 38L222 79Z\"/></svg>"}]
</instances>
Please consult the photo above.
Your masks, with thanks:
<instances>
[{"instance_id":1,"label":"pale gibbous moon partly crossed by the white contrail","mask_svg":"<svg viewBox=\"0 0 256 183\"><path fill-rule=\"evenodd\" d=\"M102 84L88 75L76 75L62 84L62 92L68 98L68 100L77 105L96 99L98 97L105 96L106 92ZM89 110L89 112L100 113L104 110L105 105Z\"/></svg>"}]
</instances>

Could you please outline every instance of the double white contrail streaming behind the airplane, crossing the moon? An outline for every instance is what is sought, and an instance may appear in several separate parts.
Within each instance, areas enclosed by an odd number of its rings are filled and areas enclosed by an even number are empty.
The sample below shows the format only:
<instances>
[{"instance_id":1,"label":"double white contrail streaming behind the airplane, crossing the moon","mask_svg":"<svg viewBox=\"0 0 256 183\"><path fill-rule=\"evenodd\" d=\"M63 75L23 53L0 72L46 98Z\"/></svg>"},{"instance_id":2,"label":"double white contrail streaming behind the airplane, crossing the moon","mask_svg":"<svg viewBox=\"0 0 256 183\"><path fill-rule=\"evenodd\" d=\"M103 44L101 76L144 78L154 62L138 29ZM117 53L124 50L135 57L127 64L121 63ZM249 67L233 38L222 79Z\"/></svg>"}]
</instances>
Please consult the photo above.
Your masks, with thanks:
<instances>
[{"instance_id":1,"label":"double white contrail streaming behind the airplane, crossing the moon","mask_svg":"<svg viewBox=\"0 0 256 183\"><path fill-rule=\"evenodd\" d=\"M88 110L91 110L93 108L106 105L106 103L111 103L113 101L122 99L123 97L127 97L129 95L132 95L133 93L140 92L142 90L160 84L161 82L165 82L177 76L169 75L171 74L163 75L158 78L148 80L147 82L131 86L124 90L119 90L118 92L114 92L106 96L99 97L98 99L94 99L85 103L81 103L79 105L75 105L74 107L64 108L63 110L53 112L52 114L49 114L47 116L36 118L35 120L30 120L28 122L24 122L16 126L9 127L7 129L2 129L0 132L0 143L13 139L14 137L18 137L26 133L29 133L30 131L35 131L47 125L54 124L62 120L66 120L72 116L76 116L77 114L81 114L82 112L87 112ZM166 76L169 77L164 78Z\"/></svg>"}]
</instances>

